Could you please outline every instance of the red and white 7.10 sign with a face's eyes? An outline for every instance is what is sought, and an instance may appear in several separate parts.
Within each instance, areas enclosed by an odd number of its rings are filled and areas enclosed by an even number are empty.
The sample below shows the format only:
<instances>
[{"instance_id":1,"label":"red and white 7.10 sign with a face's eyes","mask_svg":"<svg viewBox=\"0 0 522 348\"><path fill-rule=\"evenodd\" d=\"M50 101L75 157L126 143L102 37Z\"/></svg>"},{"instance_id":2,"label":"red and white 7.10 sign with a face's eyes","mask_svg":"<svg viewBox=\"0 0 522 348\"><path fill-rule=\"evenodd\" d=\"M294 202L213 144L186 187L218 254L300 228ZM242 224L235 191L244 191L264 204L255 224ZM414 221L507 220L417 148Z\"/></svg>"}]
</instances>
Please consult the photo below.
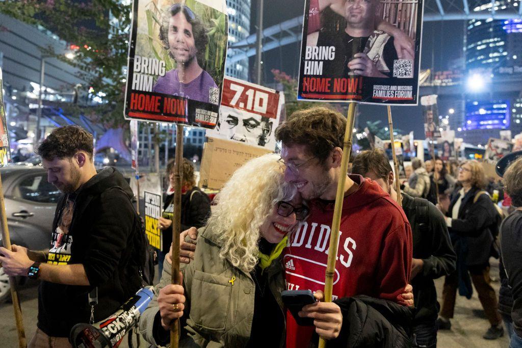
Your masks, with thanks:
<instances>
[{"instance_id":1,"label":"red and white 7.10 sign with a face's eyes","mask_svg":"<svg viewBox=\"0 0 522 348\"><path fill-rule=\"evenodd\" d=\"M274 151L275 130L284 110L284 94L274 89L226 76L212 138L241 141Z\"/></svg>"}]
</instances>

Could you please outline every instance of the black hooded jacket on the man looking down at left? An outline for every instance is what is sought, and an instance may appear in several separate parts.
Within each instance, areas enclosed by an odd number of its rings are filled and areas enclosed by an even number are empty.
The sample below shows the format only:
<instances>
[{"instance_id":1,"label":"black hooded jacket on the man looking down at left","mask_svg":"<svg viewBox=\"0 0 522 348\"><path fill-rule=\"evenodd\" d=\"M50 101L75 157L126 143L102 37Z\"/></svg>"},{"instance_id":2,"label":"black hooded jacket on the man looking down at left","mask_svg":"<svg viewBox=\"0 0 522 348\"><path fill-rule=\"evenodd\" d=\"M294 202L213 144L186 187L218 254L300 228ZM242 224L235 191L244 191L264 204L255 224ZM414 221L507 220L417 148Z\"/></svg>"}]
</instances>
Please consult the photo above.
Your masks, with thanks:
<instances>
[{"instance_id":1,"label":"black hooded jacket on the man looking down at left","mask_svg":"<svg viewBox=\"0 0 522 348\"><path fill-rule=\"evenodd\" d=\"M113 168L103 169L75 194L67 237L70 244L64 244L66 252L51 253L56 250L54 231L67 202L67 195L63 195L56 207L48 263L57 259L69 265L81 263L90 286L40 283L38 327L55 337L68 337L76 323L89 322L87 294L94 287L98 287L95 322L113 314L141 287L137 267L129 267L134 250L131 234L139 221L131 203L134 194L123 176Z\"/></svg>"}]
</instances>

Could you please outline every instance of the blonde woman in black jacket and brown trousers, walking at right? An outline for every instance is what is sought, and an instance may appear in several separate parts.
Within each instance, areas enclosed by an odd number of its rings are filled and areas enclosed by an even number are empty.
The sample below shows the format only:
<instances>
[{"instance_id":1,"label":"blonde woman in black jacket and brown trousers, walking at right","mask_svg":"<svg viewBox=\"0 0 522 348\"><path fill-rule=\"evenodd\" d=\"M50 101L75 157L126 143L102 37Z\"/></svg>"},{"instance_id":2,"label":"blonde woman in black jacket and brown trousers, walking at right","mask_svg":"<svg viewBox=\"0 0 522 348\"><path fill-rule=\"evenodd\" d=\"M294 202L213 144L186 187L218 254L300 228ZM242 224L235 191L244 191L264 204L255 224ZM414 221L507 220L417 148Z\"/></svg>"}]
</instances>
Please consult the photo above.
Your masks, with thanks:
<instances>
[{"instance_id":1,"label":"blonde woman in black jacket and brown trousers, walking at right","mask_svg":"<svg viewBox=\"0 0 522 348\"><path fill-rule=\"evenodd\" d=\"M451 328L449 319L453 318L457 287L461 294L462 291L467 292L466 296L470 298L473 282L491 325L482 337L495 340L504 335L502 318L497 311L497 297L490 284L492 224L497 223L497 211L491 198L480 192L485 186L485 175L478 161L468 160L460 165L458 182L462 188L454 192L448 210L437 206L446 214L446 224L457 253L457 271L444 280L442 308L437 321L439 329Z\"/></svg>"}]
</instances>

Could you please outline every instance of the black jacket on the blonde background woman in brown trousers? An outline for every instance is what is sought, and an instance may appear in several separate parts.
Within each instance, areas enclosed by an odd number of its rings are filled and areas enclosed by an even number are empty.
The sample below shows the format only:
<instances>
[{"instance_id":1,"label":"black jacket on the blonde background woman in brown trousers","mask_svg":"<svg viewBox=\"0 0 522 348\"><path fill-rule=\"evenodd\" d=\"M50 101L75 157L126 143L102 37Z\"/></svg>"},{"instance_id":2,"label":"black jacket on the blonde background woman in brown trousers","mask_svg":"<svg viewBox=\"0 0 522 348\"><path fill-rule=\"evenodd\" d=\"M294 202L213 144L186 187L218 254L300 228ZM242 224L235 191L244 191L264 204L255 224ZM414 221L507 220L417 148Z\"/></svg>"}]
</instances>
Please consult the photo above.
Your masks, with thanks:
<instances>
[{"instance_id":1,"label":"black jacket on the blonde background woman in brown trousers","mask_svg":"<svg viewBox=\"0 0 522 348\"><path fill-rule=\"evenodd\" d=\"M467 249L467 256L464 260L467 266L487 265L493 244L491 226L497 223L497 212L491 198L483 194L480 195L477 202L473 203L479 190L477 187L472 187L462 198L458 217L453 219L452 226L448 227L452 241L461 242L462 247ZM448 217L452 217L453 206L459 197L459 188L457 188L446 213Z\"/></svg>"}]
</instances>

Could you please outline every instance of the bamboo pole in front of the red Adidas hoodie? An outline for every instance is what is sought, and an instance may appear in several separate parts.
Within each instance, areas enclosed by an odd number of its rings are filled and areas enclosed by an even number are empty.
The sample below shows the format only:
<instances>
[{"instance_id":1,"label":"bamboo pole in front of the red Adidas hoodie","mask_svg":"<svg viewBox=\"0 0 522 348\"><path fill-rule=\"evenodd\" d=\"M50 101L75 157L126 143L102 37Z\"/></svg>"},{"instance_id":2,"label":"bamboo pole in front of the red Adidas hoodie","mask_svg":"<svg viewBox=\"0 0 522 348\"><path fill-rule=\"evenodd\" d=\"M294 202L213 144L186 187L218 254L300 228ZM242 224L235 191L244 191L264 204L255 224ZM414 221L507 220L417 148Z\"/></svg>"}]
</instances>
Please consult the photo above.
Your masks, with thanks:
<instances>
[{"instance_id":1,"label":"bamboo pole in front of the red Adidas hoodie","mask_svg":"<svg viewBox=\"0 0 522 348\"><path fill-rule=\"evenodd\" d=\"M345 198L345 183L352 150L352 133L355 116L355 103L351 102L348 107L348 119L346 122L345 139L342 148L341 175L337 183L337 194L335 196L334 220L331 224L330 246L328 251L328 263L325 276L325 302L331 302L331 294L334 289L335 261L339 244L339 227L341 224L342 201ZM319 339L319 348L324 348L326 341Z\"/></svg>"}]
</instances>

